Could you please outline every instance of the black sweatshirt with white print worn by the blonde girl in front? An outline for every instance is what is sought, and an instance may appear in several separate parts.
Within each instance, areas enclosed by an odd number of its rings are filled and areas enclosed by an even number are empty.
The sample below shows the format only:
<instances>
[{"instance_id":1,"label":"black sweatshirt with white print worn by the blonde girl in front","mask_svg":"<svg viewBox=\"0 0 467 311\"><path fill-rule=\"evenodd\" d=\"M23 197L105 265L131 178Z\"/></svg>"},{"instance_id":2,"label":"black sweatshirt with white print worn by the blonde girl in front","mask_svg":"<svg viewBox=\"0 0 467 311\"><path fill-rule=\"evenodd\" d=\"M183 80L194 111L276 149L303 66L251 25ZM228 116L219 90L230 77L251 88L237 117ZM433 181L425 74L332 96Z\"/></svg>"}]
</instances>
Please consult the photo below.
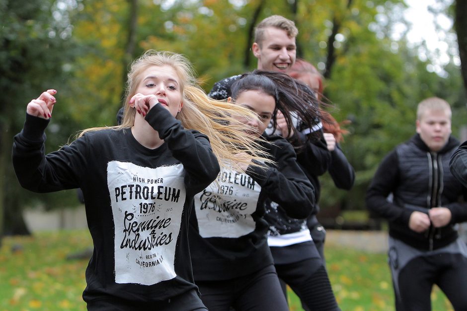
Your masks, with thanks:
<instances>
[{"instance_id":1,"label":"black sweatshirt with white print worn by the blonde girl in front","mask_svg":"<svg viewBox=\"0 0 467 311\"><path fill-rule=\"evenodd\" d=\"M164 301L196 289L188 218L194 194L215 180L219 164L208 138L184 129L161 105L146 120L165 141L156 149L142 146L129 128L102 129L45 155L49 121L30 115L14 137L21 186L83 191L94 244L85 301Z\"/></svg>"}]
</instances>

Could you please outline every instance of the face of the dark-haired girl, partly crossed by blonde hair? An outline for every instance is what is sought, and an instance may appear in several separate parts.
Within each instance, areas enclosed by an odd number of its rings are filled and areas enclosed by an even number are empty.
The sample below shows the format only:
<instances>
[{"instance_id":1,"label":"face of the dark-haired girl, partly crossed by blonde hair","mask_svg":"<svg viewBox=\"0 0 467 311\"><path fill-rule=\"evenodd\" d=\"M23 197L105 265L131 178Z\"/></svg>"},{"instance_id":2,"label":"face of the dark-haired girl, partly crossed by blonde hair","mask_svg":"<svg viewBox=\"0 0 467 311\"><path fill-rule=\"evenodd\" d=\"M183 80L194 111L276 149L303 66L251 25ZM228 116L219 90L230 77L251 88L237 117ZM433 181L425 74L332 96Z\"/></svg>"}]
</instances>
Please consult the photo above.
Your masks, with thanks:
<instances>
[{"instance_id":1,"label":"face of the dark-haired girl, partly crossed by blonde hair","mask_svg":"<svg viewBox=\"0 0 467 311\"><path fill-rule=\"evenodd\" d=\"M239 122L251 126L254 130L248 133L259 137L264 132L269 122L271 121L274 109L276 108L276 101L271 95L267 95L259 90L247 90L243 91L238 95L235 100L237 105L241 105L245 108L255 112L258 120L248 120L246 118L237 117Z\"/></svg>"}]
</instances>

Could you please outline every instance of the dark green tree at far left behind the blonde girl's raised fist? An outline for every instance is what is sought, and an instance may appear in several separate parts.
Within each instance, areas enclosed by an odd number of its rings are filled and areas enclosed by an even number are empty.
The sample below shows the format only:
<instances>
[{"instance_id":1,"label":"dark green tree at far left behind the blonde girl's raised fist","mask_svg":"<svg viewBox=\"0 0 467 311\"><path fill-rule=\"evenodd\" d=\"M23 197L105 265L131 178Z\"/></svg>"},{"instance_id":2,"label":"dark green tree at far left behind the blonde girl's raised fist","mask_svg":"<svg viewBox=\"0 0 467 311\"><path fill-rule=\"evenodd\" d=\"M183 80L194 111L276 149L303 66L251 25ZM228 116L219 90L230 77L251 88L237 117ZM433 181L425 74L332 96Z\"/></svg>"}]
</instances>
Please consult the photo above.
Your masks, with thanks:
<instances>
[{"instance_id":1,"label":"dark green tree at far left behind the blonde girl's raised fist","mask_svg":"<svg viewBox=\"0 0 467 311\"><path fill-rule=\"evenodd\" d=\"M68 76L64 69L72 58L67 53L72 45L71 28L66 10L51 0L2 0L0 20L0 89L4 98L0 107L0 226L4 227L0 227L0 234L28 234L21 211L39 196L18 185L11 165L12 138L22 127L27 103ZM56 130L58 124L53 122L49 131ZM60 131L51 136L51 144L67 138Z\"/></svg>"}]
</instances>

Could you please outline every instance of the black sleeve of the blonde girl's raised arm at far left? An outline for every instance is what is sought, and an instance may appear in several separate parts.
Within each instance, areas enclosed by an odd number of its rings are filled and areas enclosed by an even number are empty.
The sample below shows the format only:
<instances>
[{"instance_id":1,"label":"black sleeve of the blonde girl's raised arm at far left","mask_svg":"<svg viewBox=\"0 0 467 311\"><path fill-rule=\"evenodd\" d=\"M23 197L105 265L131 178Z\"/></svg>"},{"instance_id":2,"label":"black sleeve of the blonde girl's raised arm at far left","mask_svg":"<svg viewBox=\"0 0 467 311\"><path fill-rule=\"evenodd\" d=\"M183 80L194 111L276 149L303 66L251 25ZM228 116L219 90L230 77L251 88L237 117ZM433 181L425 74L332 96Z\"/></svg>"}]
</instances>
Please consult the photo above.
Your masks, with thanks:
<instances>
[{"instance_id":1,"label":"black sleeve of the blonde girl's raised arm at far left","mask_svg":"<svg viewBox=\"0 0 467 311\"><path fill-rule=\"evenodd\" d=\"M26 114L20 133L14 136L12 162L20 185L34 192L53 192L77 188L79 162L85 139L45 155L45 128L49 120Z\"/></svg>"}]
</instances>

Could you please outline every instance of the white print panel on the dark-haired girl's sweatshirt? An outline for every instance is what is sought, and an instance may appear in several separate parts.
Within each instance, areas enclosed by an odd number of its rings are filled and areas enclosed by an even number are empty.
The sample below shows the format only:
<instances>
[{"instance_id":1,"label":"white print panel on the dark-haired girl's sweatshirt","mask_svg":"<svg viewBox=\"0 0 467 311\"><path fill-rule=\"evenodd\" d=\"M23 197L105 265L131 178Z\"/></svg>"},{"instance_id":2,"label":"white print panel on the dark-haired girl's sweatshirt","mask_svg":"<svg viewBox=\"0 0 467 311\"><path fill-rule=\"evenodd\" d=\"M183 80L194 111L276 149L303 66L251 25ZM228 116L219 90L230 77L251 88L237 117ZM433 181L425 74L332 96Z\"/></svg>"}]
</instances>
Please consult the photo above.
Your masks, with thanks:
<instances>
[{"instance_id":1,"label":"white print panel on the dark-haired girl's sweatshirt","mask_svg":"<svg viewBox=\"0 0 467 311\"><path fill-rule=\"evenodd\" d=\"M255 228L261 186L246 175L222 171L214 182L195 195L196 218L203 238L238 238Z\"/></svg>"}]
</instances>

